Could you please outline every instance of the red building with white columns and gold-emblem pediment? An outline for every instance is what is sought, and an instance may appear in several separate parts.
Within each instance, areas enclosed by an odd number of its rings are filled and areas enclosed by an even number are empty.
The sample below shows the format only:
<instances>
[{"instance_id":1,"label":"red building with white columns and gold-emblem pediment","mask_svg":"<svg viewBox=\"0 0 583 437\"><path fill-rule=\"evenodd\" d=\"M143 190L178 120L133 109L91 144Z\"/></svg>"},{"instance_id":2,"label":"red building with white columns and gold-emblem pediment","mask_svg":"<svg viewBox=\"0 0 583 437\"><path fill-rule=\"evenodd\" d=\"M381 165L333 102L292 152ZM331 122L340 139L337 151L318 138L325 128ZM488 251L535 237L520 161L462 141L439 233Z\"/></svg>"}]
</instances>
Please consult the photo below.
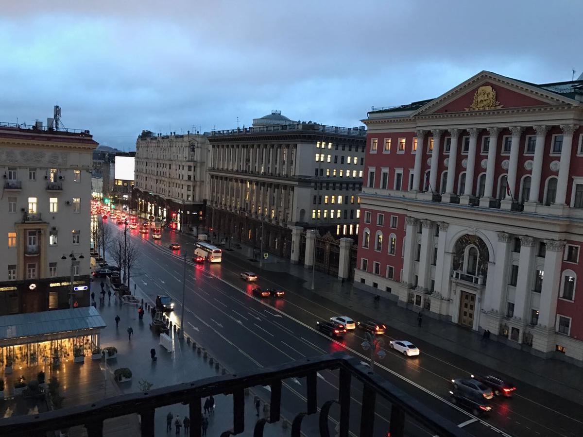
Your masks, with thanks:
<instances>
[{"instance_id":1,"label":"red building with white columns and gold-emblem pediment","mask_svg":"<svg viewBox=\"0 0 583 437\"><path fill-rule=\"evenodd\" d=\"M583 363L583 80L484 71L363 122L355 283Z\"/></svg>"}]
</instances>

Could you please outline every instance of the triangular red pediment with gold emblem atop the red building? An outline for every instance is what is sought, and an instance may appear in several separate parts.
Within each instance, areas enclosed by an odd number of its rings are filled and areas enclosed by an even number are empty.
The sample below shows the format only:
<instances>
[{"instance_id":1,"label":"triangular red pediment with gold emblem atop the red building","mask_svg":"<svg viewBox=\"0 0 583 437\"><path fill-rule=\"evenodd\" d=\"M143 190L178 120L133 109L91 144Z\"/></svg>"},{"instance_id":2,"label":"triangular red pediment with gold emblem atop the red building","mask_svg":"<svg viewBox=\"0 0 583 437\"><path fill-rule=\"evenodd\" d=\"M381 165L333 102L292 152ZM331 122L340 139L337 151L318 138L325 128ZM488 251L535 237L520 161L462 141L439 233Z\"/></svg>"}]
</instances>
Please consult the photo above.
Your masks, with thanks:
<instances>
[{"instance_id":1,"label":"triangular red pediment with gold emblem atop the red building","mask_svg":"<svg viewBox=\"0 0 583 437\"><path fill-rule=\"evenodd\" d=\"M578 102L542 89L535 84L483 71L430 101L412 116L558 104L578 104Z\"/></svg>"}]
</instances>

